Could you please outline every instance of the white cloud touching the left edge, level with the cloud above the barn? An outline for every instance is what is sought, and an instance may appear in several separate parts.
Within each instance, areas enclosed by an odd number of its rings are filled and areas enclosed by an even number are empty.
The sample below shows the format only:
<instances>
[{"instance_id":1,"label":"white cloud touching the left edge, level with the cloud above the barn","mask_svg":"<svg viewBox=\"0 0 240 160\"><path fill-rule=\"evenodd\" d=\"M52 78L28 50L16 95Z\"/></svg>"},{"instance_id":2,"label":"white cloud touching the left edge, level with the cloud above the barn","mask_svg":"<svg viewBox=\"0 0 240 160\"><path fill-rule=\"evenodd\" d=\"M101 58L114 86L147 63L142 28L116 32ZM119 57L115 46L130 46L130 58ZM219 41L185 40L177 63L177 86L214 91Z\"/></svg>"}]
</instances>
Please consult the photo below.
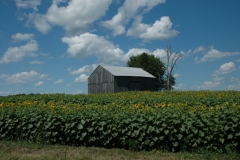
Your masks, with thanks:
<instances>
[{"instance_id":1,"label":"white cloud touching the left edge, level with the cloud above the barn","mask_svg":"<svg viewBox=\"0 0 240 160\"><path fill-rule=\"evenodd\" d=\"M24 57L36 56L34 52L38 50L38 43L35 40L30 40L26 45L20 47L10 47L0 59L1 63L18 62Z\"/></svg>"}]
</instances>

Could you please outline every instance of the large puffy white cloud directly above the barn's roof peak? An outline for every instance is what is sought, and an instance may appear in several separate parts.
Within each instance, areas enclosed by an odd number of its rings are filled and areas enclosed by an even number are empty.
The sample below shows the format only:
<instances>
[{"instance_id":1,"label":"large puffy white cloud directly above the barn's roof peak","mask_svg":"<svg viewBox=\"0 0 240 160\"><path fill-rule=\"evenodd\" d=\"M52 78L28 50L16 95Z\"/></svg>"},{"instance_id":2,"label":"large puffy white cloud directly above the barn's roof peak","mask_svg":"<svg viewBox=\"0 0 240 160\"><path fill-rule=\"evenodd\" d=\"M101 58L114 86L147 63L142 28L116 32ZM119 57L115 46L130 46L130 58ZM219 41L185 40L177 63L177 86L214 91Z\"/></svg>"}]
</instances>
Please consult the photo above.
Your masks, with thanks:
<instances>
[{"instance_id":1,"label":"large puffy white cloud directly above the barn's roof peak","mask_svg":"<svg viewBox=\"0 0 240 160\"><path fill-rule=\"evenodd\" d=\"M62 42L68 44L67 52L72 57L83 59L89 55L96 55L101 63L125 62L124 53L120 48L95 34L84 33L74 37L63 37Z\"/></svg>"}]
</instances>

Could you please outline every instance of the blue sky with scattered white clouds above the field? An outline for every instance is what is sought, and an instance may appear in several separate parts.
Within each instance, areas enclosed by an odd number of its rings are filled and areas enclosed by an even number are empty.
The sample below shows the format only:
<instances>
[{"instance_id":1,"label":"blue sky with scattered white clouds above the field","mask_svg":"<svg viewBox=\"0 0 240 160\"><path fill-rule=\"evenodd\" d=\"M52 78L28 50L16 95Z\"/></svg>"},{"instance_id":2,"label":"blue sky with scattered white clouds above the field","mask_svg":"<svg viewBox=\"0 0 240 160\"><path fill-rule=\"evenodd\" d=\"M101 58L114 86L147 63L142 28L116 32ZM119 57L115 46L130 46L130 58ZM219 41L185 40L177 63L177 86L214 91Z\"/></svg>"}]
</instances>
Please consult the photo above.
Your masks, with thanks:
<instances>
[{"instance_id":1,"label":"blue sky with scattered white clouds above the field","mask_svg":"<svg viewBox=\"0 0 240 160\"><path fill-rule=\"evenodd\" d=\"M183 57L178 90L240 90L239 0L0 0L0 95L87 93L99 64Z\"/></svg>"}]
</instances>

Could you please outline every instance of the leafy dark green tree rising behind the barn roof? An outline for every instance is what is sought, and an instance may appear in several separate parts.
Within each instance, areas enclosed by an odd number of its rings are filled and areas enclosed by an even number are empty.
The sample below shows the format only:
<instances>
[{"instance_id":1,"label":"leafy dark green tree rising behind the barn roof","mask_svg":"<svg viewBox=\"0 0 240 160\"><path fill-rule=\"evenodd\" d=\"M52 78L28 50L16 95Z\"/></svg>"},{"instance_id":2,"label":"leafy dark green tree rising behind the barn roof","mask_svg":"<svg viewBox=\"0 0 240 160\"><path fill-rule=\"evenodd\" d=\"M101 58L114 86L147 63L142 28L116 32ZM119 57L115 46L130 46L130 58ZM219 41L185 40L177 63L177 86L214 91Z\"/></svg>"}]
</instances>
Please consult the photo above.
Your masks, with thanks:
<instances>
[{"instance_id":1,"label":"leafy dark green tree rising behind the barn roof","mask_svg":"<svg viewBox=\"0 0 240 160\"><path fill-rule=\"evenodd\" d=\"M167 77L169 74L166 73L166 66L160 58L154 55L142 53L137 56L131 56L127 62L127 66L142 68L156 77L157 90L172 89L172 86L175 85L175 78L170 75L170 87L167 86Z\"/></svg>"}]
</instances>

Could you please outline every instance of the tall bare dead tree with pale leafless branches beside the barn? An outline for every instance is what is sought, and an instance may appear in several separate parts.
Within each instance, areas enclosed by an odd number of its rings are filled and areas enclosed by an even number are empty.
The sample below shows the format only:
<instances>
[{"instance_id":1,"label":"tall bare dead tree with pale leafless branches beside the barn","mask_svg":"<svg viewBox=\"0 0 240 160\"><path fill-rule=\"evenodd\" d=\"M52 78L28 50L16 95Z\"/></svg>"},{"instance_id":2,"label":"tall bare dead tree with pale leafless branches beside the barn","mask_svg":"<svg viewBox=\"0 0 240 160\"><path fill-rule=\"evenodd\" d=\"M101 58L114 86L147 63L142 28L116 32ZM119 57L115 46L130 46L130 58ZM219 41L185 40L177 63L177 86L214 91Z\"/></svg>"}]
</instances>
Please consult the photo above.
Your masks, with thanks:
<instances>
[{"instance_id":1,"label":"tall bare dead tree with pale leafless branches beside the barn","mask_svg":"<svg viewBox=\"0 0 240 160\"><path fill-rule=\"evenodd\" d=\"M167 90L172 90L173 89L172 86L175 85L175 78L172 76L172 72L180 57L182 57L182 55L179 52L172 53L171 45L167 46L167 49L166 49L167 62L166 62L166 68L165 68L166 79L167 79L167 84L166 84Z\"/></svg>"}]
</instances>

